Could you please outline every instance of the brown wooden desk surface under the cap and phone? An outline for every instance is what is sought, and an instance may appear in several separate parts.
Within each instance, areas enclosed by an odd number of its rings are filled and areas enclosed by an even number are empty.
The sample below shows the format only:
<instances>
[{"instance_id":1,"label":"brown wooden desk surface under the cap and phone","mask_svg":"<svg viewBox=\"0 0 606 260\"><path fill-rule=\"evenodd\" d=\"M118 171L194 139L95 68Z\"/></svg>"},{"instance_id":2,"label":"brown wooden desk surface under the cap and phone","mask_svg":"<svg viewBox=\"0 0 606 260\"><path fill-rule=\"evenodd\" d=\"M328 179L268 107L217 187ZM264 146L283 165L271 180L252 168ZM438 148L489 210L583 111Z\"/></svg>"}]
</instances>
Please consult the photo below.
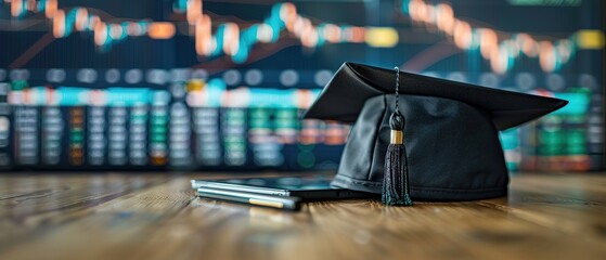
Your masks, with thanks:
<instances>
[{"instance_id":1,"label":"brown wooden desk surface under the cap and phone","mask_svg":"<svg viewBox=\"0 0 606 260\"><path fill-rule=\"evenodd\" d=\"M204 176L0 176L0 259L606 259L606 176L520 174L504 198L300 212L196 198L189 180Z\"/></svg>"}]
</instances>

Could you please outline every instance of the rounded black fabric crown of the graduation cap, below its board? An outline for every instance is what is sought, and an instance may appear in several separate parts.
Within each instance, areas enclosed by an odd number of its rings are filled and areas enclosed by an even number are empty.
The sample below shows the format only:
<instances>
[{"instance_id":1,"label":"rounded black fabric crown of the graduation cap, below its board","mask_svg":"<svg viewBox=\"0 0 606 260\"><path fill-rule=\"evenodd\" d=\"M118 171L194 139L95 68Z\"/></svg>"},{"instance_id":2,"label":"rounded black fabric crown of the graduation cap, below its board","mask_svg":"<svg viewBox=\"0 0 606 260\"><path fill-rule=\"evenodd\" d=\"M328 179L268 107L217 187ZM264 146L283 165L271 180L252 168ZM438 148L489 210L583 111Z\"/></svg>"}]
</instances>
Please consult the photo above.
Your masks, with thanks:
<instances>
[{"instance_id":1,"label":"rounded black fabric crown of the graduation cap, below its board","mask_svg":"<svg viewBox=\"0 0 606 260\"><path fill-rule=\"evenodd\" d=\"M389 115L395 95L369 99L345 146L334 185L381 193ZM400 95L407 118L413 199L468 200L506 194L507 169L498 130L489 115L460 101Z\"/></svg>"}]
</instances>

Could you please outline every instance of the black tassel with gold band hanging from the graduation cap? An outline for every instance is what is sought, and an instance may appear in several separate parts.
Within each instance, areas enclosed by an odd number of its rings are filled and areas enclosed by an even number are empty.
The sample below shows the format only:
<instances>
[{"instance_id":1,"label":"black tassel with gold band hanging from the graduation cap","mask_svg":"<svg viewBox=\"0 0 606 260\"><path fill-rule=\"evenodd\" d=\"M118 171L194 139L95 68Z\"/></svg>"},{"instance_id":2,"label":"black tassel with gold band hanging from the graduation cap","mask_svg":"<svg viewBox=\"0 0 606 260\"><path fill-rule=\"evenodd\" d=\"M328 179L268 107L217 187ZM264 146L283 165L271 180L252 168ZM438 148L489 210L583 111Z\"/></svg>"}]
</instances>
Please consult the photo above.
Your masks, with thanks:
<instances>
[{"instance_id":1,"label":"black tassel with gold band hanging from the graduation cap","mask_svg":"<svg viewBox=\"0 0 606 260\"><path fill-rule=\"evenodd\" d=\"M396 110L389 118L391 141L385 155L382 203L388 206L412 206L409 195L409 161L404 145L404 116Z\"/></svg>"}]
</instances>

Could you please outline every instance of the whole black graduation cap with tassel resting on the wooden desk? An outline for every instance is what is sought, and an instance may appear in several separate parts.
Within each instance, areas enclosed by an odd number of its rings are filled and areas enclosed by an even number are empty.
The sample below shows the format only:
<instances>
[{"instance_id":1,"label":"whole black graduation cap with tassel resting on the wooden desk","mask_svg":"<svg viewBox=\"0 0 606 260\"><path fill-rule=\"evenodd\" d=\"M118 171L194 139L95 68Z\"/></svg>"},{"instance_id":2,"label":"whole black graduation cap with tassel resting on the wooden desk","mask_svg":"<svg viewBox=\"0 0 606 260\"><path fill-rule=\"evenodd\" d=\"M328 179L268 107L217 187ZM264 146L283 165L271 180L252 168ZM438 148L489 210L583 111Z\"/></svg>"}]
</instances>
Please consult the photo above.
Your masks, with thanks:
<instances>
[{"instance_id":1,"label":"whole black graduation cap with tassel resting on the wooden desk","mask_svg":"<svg viewBox=\"0 0 606 260\"><path fill-rule=\"evenodd\" d=\"M305 118L353 123L334 186L412 205L506 195L498 132L567 103L345 63Z\"/></svg>"}]
</instances>

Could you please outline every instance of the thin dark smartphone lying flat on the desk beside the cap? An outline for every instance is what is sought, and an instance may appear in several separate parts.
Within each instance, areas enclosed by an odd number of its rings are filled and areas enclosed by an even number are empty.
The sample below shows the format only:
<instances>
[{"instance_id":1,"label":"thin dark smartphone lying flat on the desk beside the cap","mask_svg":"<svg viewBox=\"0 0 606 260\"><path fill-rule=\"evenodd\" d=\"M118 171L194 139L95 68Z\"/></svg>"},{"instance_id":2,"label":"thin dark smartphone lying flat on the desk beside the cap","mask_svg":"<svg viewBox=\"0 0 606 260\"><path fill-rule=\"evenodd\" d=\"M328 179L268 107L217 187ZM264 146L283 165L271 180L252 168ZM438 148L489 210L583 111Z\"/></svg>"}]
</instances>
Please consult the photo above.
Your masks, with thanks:
<instances>
[{"instance_id":1,"label":"thin dark smartphone lying flat on the desk beside the cap","mask_svg":"<svg viewBox=\"0 0 606 260\"><path fill-rule=\"evenodd\" d=\"M376 195L331 186L331 177L280 177L229 180L192 180L192 188L221 190L248 194L299 197L306 202L368 198ZM205 191L206 191L205 190Z\"/></svg>"}]
</instances>

